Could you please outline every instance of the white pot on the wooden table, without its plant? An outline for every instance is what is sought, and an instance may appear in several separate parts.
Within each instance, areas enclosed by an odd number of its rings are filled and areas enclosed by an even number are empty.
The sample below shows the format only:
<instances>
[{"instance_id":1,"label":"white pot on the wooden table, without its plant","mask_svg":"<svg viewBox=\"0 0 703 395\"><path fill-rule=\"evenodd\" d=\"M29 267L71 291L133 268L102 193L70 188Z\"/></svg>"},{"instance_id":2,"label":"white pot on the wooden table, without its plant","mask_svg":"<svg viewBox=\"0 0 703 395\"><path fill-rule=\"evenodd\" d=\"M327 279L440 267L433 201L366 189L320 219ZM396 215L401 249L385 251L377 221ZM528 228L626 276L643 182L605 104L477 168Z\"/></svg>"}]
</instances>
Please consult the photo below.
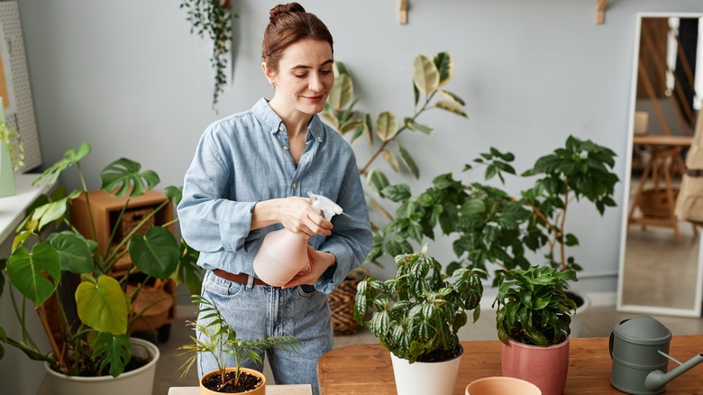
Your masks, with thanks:
<instances>
[{"instance_id":1,"label":"white pot on the wooden table, without its plant","mask_svg":"<svg viewBox=\"0 0 703 395\"><path fill-rule=\"evenodd\" d=\"M396 377L397 395L452 395L459 376L461 354L449 361L439 363L408 363L393 353L393 374Z\"/></svg>"}]
</instances>

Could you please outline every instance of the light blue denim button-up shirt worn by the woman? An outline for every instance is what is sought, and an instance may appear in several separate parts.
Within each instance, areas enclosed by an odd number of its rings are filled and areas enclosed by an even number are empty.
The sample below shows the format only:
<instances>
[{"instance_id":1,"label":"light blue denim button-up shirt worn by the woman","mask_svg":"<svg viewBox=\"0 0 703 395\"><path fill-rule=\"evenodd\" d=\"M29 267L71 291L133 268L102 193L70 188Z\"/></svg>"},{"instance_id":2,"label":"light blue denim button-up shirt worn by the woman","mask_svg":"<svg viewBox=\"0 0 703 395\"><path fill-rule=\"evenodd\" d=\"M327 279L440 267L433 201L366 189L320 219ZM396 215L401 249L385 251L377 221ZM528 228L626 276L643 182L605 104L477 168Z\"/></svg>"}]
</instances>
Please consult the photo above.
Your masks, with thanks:
<instances>
[{"instance_id":1,"label":"light blue denim button-up shirt worn by the woman","mask_svg":"<svg viewBox=\"0 0 703 395\"><path fill-rule=\"evenodd\" d=\"M352 147L318 115L307 127L306 147L296 167L280 117L261 98L249 111L210 124L188 168L178 218L183 238L200 252L198 265L255 275L252 262L263 237L283 225L251 230L257 202L307 192L332 199L332 234L308 243L333 253L336 265L315 289L330 293L366 258L371 246L369 212Z\"/></svg>"}]
</instances>

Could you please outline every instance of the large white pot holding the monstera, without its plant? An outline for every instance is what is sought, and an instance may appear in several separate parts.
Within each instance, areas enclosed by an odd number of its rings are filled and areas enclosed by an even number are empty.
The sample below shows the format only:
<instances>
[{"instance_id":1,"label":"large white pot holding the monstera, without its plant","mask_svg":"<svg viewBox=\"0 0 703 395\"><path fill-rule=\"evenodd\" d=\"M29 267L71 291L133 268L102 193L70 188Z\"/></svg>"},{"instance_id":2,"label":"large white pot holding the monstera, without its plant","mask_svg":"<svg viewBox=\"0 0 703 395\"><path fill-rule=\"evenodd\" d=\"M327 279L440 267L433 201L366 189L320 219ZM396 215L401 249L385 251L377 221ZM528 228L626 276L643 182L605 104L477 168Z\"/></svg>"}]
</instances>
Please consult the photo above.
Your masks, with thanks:
<instances>
[{"instance_id":1,"label":"large white pot holding the monstera, without its plant","mask_svg":"<svg viewBox=\"0 0 703 395\"><path fill-rule=\"evenodd\" d=\"M51 388L54 395L151 395L154 387L156 363L159 361L159 348L142 339L130 338L132 355L142 358L150 357L151 361L139 369L112 376L78 377L67 376L50 369L48 363L44 367L49 372Z\"/></svg>"}]
</instances>

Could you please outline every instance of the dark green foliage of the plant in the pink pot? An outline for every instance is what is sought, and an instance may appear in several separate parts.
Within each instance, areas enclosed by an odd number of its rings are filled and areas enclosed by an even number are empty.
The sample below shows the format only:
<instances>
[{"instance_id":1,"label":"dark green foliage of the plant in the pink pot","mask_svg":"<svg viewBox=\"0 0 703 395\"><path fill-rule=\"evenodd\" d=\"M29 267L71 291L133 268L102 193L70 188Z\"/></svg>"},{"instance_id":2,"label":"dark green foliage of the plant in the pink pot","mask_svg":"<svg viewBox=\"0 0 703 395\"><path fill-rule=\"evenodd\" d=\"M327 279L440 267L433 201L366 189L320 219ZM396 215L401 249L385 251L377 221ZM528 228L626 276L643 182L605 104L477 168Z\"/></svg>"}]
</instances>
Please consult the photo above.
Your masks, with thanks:
<instances>
[{"instance_id":1,"label":"dark green foliage of the plant in the pink pot","mask_svg":"<svg viewBox=\"0 0 703 395\"><path fill-rule=\"evenodd\" d=\"M576 281L576 271L560 271L550 266L496 271L498 295L498 338L523 344L560 344L571 334L571 314L576 303L564 290L567 280Z\"/></svg>"}]
</instances>

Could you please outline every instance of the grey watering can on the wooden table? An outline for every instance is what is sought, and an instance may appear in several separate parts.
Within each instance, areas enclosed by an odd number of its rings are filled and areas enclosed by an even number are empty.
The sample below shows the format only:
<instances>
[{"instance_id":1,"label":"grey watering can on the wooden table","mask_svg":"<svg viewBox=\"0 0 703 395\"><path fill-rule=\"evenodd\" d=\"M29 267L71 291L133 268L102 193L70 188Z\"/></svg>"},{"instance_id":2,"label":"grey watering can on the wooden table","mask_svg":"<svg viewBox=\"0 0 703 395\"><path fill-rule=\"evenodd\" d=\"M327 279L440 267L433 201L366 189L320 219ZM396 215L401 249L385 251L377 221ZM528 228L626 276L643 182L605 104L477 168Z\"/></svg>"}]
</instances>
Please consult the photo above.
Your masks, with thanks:
<instances>
[{"instance_id":1,"label":"grey watering can on the wooden table","mask_svg":"<svg viewBox=\"0 0 703 395\"><path fill-rule=\"evenodd\" d=\"M671 358L670 342L671 331L653 317L625 319L617 324L610 334L610 383L631 394L659 394L666 390L667 382L703 362L703 354L685 363ZM667 372L669 360L680 366Z\"/></svg>"}]
</instances>

